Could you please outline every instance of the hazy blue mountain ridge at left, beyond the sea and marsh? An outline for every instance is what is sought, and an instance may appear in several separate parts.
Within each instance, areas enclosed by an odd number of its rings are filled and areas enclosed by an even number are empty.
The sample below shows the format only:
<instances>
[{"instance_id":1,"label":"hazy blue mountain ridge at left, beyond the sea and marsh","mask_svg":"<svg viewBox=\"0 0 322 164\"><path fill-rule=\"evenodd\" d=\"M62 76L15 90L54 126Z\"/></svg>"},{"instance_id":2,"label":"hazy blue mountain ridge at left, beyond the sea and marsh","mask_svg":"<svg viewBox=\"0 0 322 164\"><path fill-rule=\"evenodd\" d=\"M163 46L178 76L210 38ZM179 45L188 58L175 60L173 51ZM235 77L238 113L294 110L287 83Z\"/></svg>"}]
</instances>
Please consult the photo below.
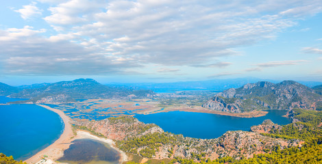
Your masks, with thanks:
<instances>
[{"instance_id":1,"label":"hazy blue mountain ridge at left, beyond the sea and marsh","mask_svg":"<svg viewBox=\"0 0 322 164\"><path fill-rule=\"evenodd\" d=\"M28 98L25 102L72 102L84 98L140 98L155 94L151 90L134 90L130 87L109 87L93 79L77 79L58 83L12 87L1 85L0 93L13 98Z\"/></svg>"}]
</instances>

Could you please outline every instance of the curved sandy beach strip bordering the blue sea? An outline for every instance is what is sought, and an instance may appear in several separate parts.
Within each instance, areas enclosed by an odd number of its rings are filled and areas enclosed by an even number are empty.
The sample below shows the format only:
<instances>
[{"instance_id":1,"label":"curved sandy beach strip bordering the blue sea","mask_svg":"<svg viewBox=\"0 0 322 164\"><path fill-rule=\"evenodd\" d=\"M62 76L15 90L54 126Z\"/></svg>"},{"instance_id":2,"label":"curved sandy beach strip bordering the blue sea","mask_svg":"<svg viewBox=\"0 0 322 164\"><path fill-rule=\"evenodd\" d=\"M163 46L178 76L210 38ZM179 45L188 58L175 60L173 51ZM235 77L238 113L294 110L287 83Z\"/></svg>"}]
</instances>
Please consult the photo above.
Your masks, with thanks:
<instances>
[{"instance_id":1,"label":"curved sandy beach strip bordering the blue sea","mask_svg":"<svg viewBox=\"0 0 322 164\"><path fill-rule=\"evenodd\" d=\"M44 155L46 155L48 156L47 161L49 163L53 163L55 159L58 159L63 155L64 150L69 148L69 146L71 145L71 141L73 140L73 137L75 137L73 134L73 129L70 124L71 118L65 115L63 111L60 111L58 109L53 109L46 105L38 105L38 106L44 107L45 109L49 109L55 113L58 113L58 115L60 116L60 118L62 118L64 122L64 131L62 135L60 135L60 138L57 139L55 142L53 142L50 146L47 146L47 148L40 150L40 152L30 157L29 159L26 159L24 162L40 163L40 161L42 161L42 159L44 158Z\"/></svg>"}]
</instances>

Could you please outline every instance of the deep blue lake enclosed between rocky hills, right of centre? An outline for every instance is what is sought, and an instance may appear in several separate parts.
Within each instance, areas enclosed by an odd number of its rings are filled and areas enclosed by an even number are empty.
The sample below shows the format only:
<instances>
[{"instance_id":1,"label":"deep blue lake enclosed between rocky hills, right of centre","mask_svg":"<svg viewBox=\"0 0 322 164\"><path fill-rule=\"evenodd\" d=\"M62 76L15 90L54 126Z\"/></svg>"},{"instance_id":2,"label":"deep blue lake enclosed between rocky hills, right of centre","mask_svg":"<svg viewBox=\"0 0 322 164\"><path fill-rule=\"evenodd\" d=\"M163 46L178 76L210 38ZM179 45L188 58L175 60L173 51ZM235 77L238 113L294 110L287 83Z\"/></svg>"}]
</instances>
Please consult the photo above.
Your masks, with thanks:
<instances>
[{"instance_id":1,"label":"deep blue lake enclosed between rocky hills, right of centre","mask_svg":"<svg viewBox=\"0 0 322 164\"><path fill-rule=\"evenodd\" d=\"M290 119L282 117L285 113L286 111L271 110L259 118L237 118L229 115L171 111L149 115L136 114L134 117L141 122L157 124L164 131L182 134L184 137L212 139L220 137L226 131L249 131L251 126L261 124L266 119L276 124L289 124Z\"/></svg>"}]
</instances>

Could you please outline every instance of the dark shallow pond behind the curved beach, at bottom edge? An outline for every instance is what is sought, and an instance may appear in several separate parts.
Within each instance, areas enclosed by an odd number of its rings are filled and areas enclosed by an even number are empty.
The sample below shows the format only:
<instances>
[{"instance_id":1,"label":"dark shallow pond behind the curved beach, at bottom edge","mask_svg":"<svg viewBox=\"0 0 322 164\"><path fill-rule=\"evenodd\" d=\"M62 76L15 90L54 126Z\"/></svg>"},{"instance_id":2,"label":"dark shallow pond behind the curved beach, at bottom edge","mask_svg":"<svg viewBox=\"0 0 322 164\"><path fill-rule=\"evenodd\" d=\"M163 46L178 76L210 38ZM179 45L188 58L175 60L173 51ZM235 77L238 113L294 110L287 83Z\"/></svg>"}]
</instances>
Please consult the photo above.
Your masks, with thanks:
<instances>
[{"instance_id":1,"label":"dark shallow pond behind the curved beach, at bottom edge","mask_svg":"<svg viewBox=\"0 0 322 164\"><path fill-rule=\"evenodd\" d=\"M95 139L76 139L58 161L70 164L116 164L120 154L107 143Z\"/></svg>"}]
</instances>

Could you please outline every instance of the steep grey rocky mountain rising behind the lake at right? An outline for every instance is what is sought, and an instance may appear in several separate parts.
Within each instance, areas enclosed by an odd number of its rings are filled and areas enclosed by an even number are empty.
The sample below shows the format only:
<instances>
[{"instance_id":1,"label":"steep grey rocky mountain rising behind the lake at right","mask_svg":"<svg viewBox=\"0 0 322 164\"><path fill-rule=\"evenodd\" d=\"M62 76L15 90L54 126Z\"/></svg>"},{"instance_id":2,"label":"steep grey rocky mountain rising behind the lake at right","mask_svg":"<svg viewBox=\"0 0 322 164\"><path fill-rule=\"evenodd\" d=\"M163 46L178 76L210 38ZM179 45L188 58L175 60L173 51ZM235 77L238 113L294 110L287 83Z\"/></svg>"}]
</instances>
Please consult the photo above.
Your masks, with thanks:
<instances>
[{"instance_id":1,"label":"steep grey rocky mountain rising behind the lake at right","mask_svg":"<svg viewBox=\"0 0 322 164\"><path fill-rule=\"evenodd\" d=\"M316 109L321 94L295 81L248 83L237 89L220 92L202 107L233 113L256 109Z\"/></svg>"}]
</instances>

